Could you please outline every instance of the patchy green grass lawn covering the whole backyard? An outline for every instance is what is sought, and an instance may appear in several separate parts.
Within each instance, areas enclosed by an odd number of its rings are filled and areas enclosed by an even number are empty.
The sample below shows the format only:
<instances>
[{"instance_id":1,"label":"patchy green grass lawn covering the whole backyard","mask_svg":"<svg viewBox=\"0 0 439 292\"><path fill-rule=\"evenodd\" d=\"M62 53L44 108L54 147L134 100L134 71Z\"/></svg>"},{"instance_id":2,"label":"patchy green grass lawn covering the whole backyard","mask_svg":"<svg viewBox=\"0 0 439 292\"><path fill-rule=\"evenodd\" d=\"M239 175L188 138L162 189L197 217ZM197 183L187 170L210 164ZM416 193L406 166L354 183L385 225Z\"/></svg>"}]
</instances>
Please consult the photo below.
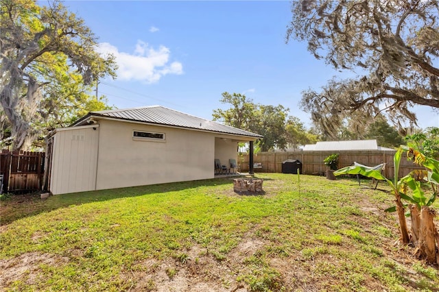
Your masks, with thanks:
<instances>
[{"instance_id":1,"label":"patchy green grass lawn covering the whole backyard","mask_svg":"<svg viewBox=\"0 0 439 292\"><path fill-rule=\"evenodd\" d=\"M0 290L439 291L383 182L257 177L264 195L224 178L7 199Z\"/></svg>"}]
</instances>

